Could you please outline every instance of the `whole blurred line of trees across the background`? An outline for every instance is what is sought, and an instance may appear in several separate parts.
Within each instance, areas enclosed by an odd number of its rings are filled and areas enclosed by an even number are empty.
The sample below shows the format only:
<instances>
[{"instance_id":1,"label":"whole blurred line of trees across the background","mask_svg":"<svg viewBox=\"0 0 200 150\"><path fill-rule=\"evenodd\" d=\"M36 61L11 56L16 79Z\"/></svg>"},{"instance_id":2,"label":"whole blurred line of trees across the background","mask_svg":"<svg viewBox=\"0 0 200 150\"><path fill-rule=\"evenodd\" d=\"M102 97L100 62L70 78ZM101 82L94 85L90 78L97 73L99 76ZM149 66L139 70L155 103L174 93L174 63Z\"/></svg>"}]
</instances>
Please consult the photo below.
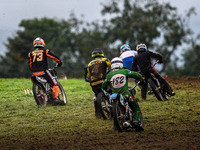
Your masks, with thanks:
<instances>
[{"instance_id":1,"label":"whole blurred line of trees across the background","mask_svg":"<svg viewBox=\"0 0 200 150\"><path fill-rule=\"evenodd\" d=\"M110 19L86 22L72 13L68 20L22 20L15 36L7 39L5 56L0 56L0 77L31 76L28 53L33 50L36 37L43 38L45 47L60 57L63 66L58 73L67 77L83 77L95 48L101 48L105 56L112 59L119 56L119 48L124 43L132 49L145 43L149 50L160 53L164 59L160 72L173 76L199 75L200 35L191 38L193 33L188 26L191 15L195 14L194 8L180 16L176 7L158 0L111 0L102 4L101 14ZM179 67L180 57L175 52L183 44L190 47L179 54L183 61ZM53 65L50 61L49 66Z\"/></svg>"}]
</instances>

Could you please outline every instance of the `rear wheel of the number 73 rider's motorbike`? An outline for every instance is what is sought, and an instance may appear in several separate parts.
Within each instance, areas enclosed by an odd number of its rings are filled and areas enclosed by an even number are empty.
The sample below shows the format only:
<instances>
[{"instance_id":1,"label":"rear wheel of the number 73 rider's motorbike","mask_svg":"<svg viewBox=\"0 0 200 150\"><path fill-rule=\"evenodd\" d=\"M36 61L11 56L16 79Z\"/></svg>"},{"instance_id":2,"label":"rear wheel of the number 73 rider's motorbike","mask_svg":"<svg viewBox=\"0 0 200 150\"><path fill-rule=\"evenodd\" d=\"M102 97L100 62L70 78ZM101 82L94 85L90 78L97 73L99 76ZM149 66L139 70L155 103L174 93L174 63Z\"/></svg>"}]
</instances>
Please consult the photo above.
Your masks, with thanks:
<instances>
[{"instance_id":1,"label":"rear wheel of the number 73 rider's motorbike","mask_svg":"<svg viewBox=\"0 0 200 150\"><path fill-rule=\"evenodd\" d=\"M46 106L48 99L44 88L40 85L33 84L32 90L36 104Z\"/></svg>"}]
</instances>

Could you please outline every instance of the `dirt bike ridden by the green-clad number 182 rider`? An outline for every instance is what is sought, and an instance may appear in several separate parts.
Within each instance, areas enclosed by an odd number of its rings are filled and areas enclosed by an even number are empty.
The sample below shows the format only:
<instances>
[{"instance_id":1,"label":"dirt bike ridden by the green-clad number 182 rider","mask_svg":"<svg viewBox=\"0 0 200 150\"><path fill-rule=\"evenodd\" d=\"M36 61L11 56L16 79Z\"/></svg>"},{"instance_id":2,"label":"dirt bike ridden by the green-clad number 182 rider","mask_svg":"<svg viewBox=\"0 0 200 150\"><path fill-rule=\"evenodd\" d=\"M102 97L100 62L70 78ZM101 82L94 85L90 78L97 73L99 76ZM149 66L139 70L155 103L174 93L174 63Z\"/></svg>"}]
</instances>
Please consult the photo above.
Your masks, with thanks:
<instances>
[{"instance_id":1,"label":"dirt bike ridden by the green-clad number 182 rider","mask_svg":"<svg viewBox=\"0 0 200 150\"><path fill-rule=\"evenodd\" d=\"M110 96L112 101L112 115L114 120L114 128L118 131L127 131L130 128L138 128L134 125L134 112L128 104L125 96L114 93ZM143 117L140 117L140 126L143 127Z\"/></svg>"}]
</instances>

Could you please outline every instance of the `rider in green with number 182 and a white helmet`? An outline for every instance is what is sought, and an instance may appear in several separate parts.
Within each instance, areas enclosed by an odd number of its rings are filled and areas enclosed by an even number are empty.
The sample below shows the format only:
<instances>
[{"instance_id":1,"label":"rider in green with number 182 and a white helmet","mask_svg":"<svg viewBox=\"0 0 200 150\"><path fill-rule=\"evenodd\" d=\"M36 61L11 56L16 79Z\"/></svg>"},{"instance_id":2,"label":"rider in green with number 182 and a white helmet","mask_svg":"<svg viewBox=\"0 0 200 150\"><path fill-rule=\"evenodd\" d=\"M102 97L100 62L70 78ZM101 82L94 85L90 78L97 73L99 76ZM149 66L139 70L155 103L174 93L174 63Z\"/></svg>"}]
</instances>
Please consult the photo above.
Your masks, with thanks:
<instances>
[{"instance_id":1,"label":"rider in green with number 182 and a white helmet","mask_svg":"<svg viewBox=\"0 0 200 150\"><path fill-rule=\"evenodd\" d=\"M143 82L143 77L139 73L127 70L123 67L121 58L113 58L111 60L111 71L107 74L102 88L106 90L108 86L111 86L112 93L122 94L128 99L130 108L134 112L134 128L136 131L143 131L143 123L140 122L140 118L142 117L140 107L128 90L128 78L134 78Z\"/></svg>"}]
</instances>

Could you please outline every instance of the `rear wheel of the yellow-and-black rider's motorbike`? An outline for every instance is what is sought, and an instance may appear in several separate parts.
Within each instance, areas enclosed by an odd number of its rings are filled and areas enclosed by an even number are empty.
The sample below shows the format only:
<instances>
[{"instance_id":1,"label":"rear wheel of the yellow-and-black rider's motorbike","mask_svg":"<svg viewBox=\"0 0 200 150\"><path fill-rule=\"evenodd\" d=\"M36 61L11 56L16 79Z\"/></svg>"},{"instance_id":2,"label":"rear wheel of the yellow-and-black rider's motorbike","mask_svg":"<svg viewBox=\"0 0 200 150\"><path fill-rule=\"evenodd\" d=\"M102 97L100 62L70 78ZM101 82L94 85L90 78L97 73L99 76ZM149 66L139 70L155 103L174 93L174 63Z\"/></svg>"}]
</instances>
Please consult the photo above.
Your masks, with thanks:
<instances>
[{"instance_id":1,"label":"rear wheel of the yellow-and-black rider's motorbike","mask_svg":"<svg viewBox=\"0 0 200 150\"><path fill-rule=\"evenodd\" d=\"M105 97L102 92L97 95L97 105L102 118L111 119L112 105L109 103L109 99Z\"/></svg>"}]
</instances>

